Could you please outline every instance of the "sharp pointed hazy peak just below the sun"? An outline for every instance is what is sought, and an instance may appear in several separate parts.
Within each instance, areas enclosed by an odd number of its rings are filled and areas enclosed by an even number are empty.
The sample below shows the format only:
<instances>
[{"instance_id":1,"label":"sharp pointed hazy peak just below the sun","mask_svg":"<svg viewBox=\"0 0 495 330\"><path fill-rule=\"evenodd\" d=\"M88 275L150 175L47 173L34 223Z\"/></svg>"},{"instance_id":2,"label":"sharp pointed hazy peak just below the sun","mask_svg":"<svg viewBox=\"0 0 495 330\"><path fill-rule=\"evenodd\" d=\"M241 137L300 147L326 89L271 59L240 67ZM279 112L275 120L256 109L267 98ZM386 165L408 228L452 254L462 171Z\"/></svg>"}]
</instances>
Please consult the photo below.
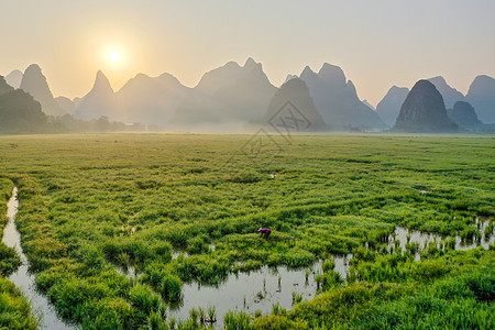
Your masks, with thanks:
<instances>
[{"instance_id":1,"label":"sharp pointed hazy peak just below the sun","mask_svg":"<svg viewBox=\"0 0 495 330\"><path fill-rule=\"evenodd\" d=\"M105 74L97 73L95 85L91 90L80 100L79 106L74 112L74 117L82 120L98 119L101 116L110 120L122 121L125 113L119 105L116 92Z\"/></svg>"}]
</instances>

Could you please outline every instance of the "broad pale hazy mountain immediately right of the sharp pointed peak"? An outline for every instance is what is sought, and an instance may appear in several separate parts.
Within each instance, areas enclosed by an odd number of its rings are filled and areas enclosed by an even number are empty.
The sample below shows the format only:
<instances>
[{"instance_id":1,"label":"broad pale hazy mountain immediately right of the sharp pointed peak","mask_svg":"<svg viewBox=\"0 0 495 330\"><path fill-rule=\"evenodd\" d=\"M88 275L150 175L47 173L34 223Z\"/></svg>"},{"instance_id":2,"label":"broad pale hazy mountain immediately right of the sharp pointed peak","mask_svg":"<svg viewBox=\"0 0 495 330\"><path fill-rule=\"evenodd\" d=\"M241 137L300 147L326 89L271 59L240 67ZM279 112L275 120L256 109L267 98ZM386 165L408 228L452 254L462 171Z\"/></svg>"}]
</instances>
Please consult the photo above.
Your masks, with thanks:
<instances>
[{"instance_id":1,"label":"broad pale hazy mountain immediately right of the sharp pointed peak","mask_svg":"<svg viewBox=\"0 0 495 330\"><path fill-rule=\"evenodd\" d=\"M169 74L156 78L139 74L117 92L117 98L125 109L125 122L163 127L189 90Z\"/></svg>"}]
</instances>

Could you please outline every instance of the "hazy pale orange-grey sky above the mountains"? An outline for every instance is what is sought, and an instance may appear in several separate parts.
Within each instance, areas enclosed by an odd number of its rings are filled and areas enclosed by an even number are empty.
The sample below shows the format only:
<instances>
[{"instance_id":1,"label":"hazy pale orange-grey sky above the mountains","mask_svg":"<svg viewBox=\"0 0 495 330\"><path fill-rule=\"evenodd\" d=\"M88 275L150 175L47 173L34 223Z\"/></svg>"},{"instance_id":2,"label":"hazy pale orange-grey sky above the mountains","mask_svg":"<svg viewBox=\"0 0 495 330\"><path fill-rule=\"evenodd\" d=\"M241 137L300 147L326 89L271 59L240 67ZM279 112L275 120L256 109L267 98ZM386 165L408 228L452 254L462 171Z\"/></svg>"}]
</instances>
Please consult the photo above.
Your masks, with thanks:
<instances>
[{"instance_id":1,"label":"hazy pale orange-grey sky above the mountains","mask_svg":"<svg viewBox=\"0 0 495 330\"><path fill-rule=\"evenodd\" d=\"M98 69L114 89L165 72L193 87L251 56L276 86L339 65L376 105L392 85L442 75L466 92L495 77L495 1L0 0L0 43L1 75L37 63L55 96L84 96Z\"/></svg>"}]
</instances>

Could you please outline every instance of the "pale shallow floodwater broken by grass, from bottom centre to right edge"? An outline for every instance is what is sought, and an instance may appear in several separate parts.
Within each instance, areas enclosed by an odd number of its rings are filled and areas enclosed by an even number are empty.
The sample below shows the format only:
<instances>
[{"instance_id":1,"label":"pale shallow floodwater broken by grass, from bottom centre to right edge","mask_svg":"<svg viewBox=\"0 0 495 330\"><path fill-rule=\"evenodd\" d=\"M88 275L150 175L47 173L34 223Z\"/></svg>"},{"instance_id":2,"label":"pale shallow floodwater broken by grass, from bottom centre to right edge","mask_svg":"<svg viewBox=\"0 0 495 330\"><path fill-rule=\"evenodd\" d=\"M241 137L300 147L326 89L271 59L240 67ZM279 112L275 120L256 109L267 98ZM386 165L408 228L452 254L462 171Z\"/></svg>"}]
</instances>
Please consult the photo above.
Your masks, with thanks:
<instances>
[{"instance_id":1,"label":"pale shallow floodwater broken by grass, from bottom centre to right edge","mask_svg":"<svg viewBox=\"0 0 495 330\"><path fill-rule=\"evenodd\" d=\"M484 233L488 223L490 221L480 223L479 229L482 233ZM419 260L420 251L427 248L430 242L435 242L437 248L443 249L443 243L448 239L449 237L440 237L397 227L388 238L387 248L388 252L392 253L396 246L405 251L406 244L416 243L418 245L416 260ZM454 249L469 250L479 245L488 249L488 245L493 244L494 241L495 235L493 233L487 240L482 234L482 239L474 240L470 243L461 242L461 239L457 237ZM176 251L174 252L174 258L180 254L187 256L187 253L184 253L184 251ZM353 255L332 256L336 263L334 271L343 279L346 279L350 261ZM183 301L170 306L168 317L186 320L189 317L189 310L191 308L201 307L207 309L209 306L215 306L217 308L218 322L213 327L215 329L221 329L223 327L223 316L229 310L244 310L250 314L260 310L263 314L270 314L272 306L276 302L279 302L280 307L289 309L293 305L294 292L301 294L302 300L309 300L317 295L318 288L315 276L323 272L321 266L322 261L317 262L306 270L290 270L286 266L278 266L276 268L264 266L258 271L250 273L230 274L227 280L218 286L201 286L196 282L184 284Z\"/></svg>"}]
</instances>

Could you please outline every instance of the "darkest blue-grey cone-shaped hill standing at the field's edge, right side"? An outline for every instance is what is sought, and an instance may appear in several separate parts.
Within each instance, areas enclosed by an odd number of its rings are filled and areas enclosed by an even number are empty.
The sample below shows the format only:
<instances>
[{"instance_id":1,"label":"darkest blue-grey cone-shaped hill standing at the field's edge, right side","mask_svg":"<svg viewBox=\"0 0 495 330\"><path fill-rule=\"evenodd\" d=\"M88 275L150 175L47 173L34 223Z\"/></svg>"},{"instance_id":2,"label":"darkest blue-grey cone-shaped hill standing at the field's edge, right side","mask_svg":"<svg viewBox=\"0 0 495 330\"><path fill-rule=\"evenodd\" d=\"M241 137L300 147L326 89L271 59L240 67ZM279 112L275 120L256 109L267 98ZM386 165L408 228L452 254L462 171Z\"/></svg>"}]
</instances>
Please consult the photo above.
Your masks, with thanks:
<instances>
[{"instance_id":1,"label":"darkest blue-grey cone-shaped hill standing at the field's edge, right side","mask_svg":"<svg viewBox=\"0 0 495 330\"><path fill-rule=\"evenodd\" d=\"M457 132L458 124L447 116L443 97L433 84L419 80L407 95L394 131L411 133Z\"/></svg>"}]
</instances>

